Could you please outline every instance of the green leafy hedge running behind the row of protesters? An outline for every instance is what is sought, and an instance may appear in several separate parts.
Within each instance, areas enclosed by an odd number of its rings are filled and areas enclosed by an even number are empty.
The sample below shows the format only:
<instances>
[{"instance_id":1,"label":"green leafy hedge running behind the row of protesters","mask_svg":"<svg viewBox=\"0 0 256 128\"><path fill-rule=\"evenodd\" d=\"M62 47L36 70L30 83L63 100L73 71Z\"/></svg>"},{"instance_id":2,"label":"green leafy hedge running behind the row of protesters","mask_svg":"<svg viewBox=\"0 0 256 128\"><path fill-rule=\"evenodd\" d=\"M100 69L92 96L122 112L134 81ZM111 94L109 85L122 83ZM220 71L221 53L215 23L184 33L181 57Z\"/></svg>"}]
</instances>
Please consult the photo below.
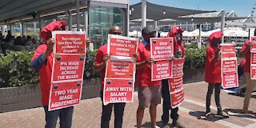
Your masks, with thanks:
<instances>
[{"instance_id":1,"label":"green leafy hedge running behind the row of protesters","mask_svg":"<svg viewBox=\"0 0 256 128\"><path fill-rule=\"evenodd\" d=\"M98 78L100 73L94 69L96 51L89 51L84 71L84 79ZM34 52L16 51L0 54L0 88L13 86L31 86L38 84L38 71L30 66ZM206 48L186 49L184 69L197 69L205 66Z\"/></svg>"}]
</instances>

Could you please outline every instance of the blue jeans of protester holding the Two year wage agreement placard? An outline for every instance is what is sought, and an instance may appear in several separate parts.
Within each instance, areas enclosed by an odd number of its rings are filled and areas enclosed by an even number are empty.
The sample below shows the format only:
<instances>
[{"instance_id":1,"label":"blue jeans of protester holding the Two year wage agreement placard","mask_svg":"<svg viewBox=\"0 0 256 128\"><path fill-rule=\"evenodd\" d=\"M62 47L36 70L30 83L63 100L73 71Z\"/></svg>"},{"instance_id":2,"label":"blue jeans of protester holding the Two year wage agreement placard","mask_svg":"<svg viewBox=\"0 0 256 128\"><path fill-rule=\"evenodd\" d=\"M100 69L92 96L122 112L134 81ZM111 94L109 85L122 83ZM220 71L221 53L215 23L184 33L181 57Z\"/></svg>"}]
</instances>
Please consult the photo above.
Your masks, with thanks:
<instances>
[{"instance_id":1,"label":"blue jeans of protester holding the Two year wage agreement placard","mask_svg":"<svg viewBox=\"0 0 256 128\"><path fill-rule=\"evenodd\" d=\"M60 110L48 111L48 106L43 106L46 114L46 128L55 128L59 117L60 128L70 128L72 125L72 115L74 106L63 108Z\"/></svg>"}]
</instances>

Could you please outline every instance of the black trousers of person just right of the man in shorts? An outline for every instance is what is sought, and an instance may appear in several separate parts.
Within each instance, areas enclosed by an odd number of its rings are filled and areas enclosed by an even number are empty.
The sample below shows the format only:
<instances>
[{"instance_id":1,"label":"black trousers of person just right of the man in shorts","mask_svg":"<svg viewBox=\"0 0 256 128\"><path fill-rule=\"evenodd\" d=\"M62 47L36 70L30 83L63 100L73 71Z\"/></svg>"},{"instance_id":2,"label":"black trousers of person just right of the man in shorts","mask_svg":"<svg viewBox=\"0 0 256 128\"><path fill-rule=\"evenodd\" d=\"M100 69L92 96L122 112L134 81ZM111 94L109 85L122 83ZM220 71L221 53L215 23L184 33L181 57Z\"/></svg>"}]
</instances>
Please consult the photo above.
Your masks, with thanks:
<instances>
[{"instance_id":1,"label":"black trousers of person just right of the man in shorts","mask_svg":"<svg viewBox=\"0 0 256 128\"><path fill-rule=\"evenodd\" d=\"M170 90L169 90L169 83L167 79L162 80L162 122L168 123L169 116L173 121L178 120L178 106L176 108L172 108L170 105ZM169 113L170 110L170 113Z\"/></svg>"}]
</instances>

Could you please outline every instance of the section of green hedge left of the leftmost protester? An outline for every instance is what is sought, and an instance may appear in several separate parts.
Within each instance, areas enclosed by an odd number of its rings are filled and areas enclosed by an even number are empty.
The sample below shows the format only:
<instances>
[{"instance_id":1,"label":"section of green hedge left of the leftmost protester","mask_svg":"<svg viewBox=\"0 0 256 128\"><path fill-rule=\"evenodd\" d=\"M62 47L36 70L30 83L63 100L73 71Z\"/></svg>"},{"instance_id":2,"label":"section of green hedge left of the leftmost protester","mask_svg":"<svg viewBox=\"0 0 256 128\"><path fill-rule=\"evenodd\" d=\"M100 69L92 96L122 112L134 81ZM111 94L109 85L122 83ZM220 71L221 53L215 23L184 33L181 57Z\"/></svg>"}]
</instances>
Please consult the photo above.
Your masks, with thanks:
<instances>
[{"instance_id":1,"label":"section of green hedge left of the leftmost protester","mask_svg":"<svg viewBox=\"0 0 256 128\"><path fill-rule=\"evenodd\" d=\"M30 66L33 54L34 52L18 51L0 55L0 88L38 83L38 73Z\"/></svg>"}]
</instances>

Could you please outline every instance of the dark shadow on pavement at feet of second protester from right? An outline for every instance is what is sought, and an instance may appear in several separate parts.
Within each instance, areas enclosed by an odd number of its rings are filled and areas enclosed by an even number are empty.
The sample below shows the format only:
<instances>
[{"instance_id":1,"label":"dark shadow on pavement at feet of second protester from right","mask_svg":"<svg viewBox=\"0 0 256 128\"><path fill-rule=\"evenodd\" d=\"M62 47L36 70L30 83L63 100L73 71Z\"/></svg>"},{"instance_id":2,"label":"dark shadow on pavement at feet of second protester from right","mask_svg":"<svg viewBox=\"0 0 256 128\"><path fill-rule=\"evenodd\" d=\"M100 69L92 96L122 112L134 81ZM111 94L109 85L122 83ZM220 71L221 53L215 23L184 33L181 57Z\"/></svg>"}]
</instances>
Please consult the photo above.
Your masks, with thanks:
<instances>
[{"instance_id":1,"label":"dark shadow on pavement at feet of second protester from right","mask_svg":"<svg viewBox=\"0 0 256 128\"><path fill-rule=\"evenodd\" d=\"M205 116L204 111L190 111L190 115L197 117L198 119L204 119L210 122L216 122L218 120L224 119L222 116L218 116L216 114L210 114L209 116Z\"/></svg>"}]
</instances>

